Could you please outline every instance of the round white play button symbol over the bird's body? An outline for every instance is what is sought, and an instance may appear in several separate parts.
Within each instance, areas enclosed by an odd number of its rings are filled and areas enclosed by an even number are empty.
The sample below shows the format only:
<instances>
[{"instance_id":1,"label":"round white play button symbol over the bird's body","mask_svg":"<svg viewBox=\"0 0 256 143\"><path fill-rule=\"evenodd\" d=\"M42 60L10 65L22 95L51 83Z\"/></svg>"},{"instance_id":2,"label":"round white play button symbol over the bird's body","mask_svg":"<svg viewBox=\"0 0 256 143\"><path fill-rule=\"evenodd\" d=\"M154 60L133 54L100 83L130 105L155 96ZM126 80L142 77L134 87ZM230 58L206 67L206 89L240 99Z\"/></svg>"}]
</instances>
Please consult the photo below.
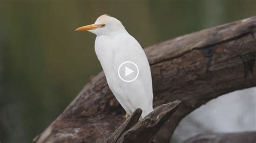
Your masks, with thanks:
<instances>
[{"instance_id":1,"label":"round white play button symbol over the bird's body","mask_svg":"<svg viewBox=\"0 0 256 143\"><path fill-rule=\"evenodd\" d=\"M132 82L139 75L138 66L131 61L125 61L118 67L118 76L124 82Z\"/></svg>"}]
</instances>

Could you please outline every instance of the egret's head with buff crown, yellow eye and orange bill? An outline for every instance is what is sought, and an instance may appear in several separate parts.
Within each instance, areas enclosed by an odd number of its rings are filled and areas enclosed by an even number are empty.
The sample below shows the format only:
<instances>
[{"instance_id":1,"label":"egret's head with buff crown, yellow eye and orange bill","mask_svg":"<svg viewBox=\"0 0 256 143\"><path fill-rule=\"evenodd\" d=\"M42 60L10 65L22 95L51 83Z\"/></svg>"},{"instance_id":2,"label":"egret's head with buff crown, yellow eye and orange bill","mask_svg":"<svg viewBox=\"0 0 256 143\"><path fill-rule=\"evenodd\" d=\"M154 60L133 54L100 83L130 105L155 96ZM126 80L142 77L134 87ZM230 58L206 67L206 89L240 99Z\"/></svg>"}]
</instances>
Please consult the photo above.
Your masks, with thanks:
<instances>
[{"instance_id":1,"label":"egret's head with buff crown, yellow eye and orange bill","mask_svg":"<svg viewBox=\"0 0 256 143\"><path fill-rule=\"evenodd\" d=\"M96 35L113 35L125 31L125 28L118 19L102 15L94 24L79 27L75 31L89 31Z\"/></svg>"}]
</instances>

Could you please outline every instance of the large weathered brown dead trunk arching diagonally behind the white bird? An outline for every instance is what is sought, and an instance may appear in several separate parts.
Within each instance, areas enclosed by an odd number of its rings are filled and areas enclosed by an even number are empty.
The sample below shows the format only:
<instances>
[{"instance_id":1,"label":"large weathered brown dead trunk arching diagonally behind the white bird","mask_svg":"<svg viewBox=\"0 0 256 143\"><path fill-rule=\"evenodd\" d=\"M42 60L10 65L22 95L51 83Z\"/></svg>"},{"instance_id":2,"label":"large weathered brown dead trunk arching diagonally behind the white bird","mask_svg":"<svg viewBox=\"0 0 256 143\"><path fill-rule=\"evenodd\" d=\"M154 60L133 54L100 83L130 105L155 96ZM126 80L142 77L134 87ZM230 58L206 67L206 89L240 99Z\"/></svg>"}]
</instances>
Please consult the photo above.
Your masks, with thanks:
<instances>
[{"instance_id":1,"label":"large weathered brown dead trunk arching diagonally behind the white bird","mask_svg":"<svg viewBox=\"0 0 256 143\"><path fill-rule=\"evenodd\" d=\"M255 33L256 17L252 17L145 48L154 107L181 101L171 120L154 136L155 142L169 142L179 121L200 105L256 86ZM35 142L104 142L124 123L124 114L102 72Z\"/></svg>"}]
</instances>

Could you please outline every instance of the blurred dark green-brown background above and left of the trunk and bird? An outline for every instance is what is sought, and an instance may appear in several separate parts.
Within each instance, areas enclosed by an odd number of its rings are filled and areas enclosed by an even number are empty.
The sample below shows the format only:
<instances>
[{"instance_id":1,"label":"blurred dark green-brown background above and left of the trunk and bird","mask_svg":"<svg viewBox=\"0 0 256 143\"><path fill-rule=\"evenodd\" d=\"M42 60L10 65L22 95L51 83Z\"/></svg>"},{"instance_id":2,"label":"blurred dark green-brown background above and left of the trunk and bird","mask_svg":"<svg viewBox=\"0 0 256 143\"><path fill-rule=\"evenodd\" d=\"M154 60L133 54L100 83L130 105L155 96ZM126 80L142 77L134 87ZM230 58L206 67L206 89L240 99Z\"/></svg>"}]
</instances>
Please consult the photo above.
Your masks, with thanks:
<instances>
[{"instance_id":1,"label":"blurred dark green-brown background above and left of the trunk and bird","mask_svg":"<svg viewBox=\"0 0 256 143\"><path fill-rule=\"evenodd\" d=\"M102 68L95 35L75 32L103 14L143 47L256 15L256 1L0 0L0 142L31 142Z\"/></svg>"}]
</instances>

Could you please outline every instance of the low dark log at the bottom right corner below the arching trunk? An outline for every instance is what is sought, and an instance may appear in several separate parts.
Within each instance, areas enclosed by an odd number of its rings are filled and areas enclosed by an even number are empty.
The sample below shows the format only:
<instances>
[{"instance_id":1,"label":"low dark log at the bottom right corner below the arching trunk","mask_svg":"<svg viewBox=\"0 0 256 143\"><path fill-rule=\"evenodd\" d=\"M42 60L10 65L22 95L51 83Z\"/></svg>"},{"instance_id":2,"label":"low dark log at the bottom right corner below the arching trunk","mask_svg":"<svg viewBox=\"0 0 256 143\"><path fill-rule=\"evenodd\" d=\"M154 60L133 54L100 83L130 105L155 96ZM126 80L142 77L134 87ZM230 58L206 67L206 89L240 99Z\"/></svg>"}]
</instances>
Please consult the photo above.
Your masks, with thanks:
<instances>
[{"instance_id":1,"label":"low dark log at the bottom right corner below the arching trunk","mask_svg":"<svg viewBox=\"0 0 256 143\"><path fill-rule=\"evenodd\" d=\"M187 139L184 143L255 143L256 132L206 133Z\"/></svg>"}]
</instances>

